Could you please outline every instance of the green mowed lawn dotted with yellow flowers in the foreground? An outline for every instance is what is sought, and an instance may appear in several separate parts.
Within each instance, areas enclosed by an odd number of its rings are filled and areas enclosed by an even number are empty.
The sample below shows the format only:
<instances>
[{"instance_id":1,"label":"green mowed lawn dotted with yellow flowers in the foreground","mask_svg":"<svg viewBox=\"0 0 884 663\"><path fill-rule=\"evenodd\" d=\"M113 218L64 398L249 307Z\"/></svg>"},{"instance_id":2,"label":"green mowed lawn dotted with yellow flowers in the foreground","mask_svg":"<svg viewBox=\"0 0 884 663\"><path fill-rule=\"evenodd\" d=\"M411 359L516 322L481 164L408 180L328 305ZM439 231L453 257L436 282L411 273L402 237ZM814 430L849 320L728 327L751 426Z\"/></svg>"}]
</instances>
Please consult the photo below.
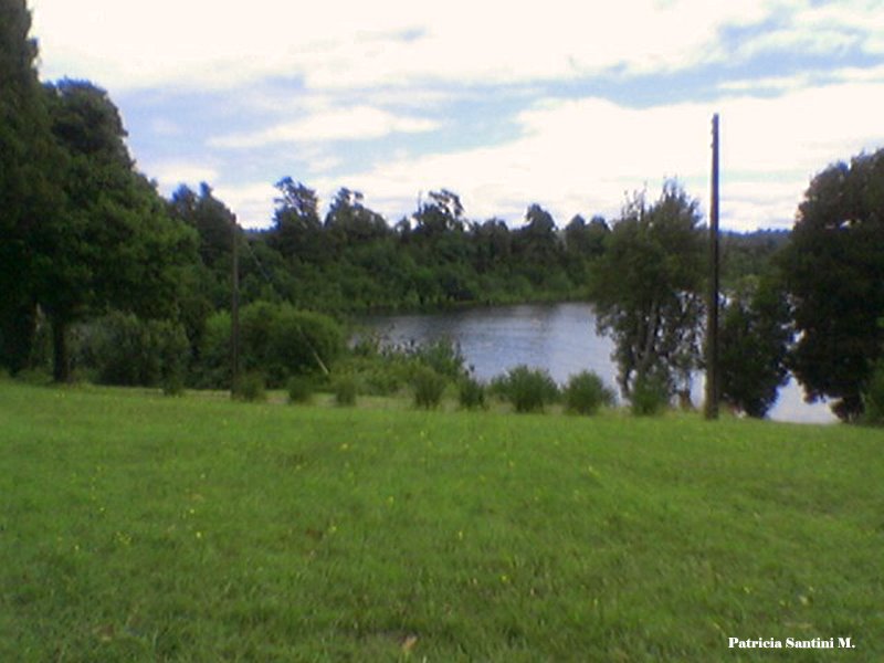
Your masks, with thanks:
<instances>
[{"instance_id":1,"label":"green mowed lawn dotted with yellow flowers in the foreground","mask_svg":"<svg viewBox=\"0 0 884 663\"><path fill-rule=\"evenodd\" d=\"M0 660L881 661L882 452L0 382Z\"/></svg>"}]
</instances>

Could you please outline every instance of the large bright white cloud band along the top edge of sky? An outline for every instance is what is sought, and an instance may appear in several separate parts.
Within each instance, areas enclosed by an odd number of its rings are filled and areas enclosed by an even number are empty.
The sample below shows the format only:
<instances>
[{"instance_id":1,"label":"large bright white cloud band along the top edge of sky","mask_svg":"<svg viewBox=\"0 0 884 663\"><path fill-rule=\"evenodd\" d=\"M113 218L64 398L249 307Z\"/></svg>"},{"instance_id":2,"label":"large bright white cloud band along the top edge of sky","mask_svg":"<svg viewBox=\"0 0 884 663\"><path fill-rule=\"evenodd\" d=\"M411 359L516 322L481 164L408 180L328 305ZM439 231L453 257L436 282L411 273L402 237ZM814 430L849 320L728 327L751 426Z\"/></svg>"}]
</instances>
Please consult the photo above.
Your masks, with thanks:
<instances>
[{"instance_id":1,"label":"large bright white cloud band along the top edge of sky","mask_svg":"<svg viewBox=\"0 0 884 663\"><path fill-rule=\"evenodd\" d=\"M283 0L32 4L44 73L90 77L112 91L280 75L316 90L567 78L620 65L664 71L720 57L717 29L767 11L761 0L449 0L444 8L326 0L308 10Z\"/></svg>"}]
</instances>

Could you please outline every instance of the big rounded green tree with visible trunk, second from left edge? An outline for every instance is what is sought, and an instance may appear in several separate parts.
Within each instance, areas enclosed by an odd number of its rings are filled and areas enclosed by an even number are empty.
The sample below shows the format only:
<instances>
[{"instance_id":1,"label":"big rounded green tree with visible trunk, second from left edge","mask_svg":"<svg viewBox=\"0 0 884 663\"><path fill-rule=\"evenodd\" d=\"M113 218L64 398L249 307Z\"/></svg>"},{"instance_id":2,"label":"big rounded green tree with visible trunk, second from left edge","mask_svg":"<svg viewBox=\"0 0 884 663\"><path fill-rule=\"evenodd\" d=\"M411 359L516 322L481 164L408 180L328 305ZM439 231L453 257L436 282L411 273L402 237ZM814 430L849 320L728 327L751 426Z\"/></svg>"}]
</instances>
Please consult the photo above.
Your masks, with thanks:
<instances>
[{"instance_id":1,"label":"big rounded green tree with visible trunk, second from left edge","mask_svg":"<svg viewBox=\"0 0 884 663\"><path fill-rule=\"evenodd\" d=\"M65 201L34 227L30 249L35 294L53 328L54 377L66 381L71 323L108 307L175 315L176 267L193 260L196 238L134 170L119 112L105 91L65 80L46 87L46 99L64 157Z\"/></svg>"}]
</instances>

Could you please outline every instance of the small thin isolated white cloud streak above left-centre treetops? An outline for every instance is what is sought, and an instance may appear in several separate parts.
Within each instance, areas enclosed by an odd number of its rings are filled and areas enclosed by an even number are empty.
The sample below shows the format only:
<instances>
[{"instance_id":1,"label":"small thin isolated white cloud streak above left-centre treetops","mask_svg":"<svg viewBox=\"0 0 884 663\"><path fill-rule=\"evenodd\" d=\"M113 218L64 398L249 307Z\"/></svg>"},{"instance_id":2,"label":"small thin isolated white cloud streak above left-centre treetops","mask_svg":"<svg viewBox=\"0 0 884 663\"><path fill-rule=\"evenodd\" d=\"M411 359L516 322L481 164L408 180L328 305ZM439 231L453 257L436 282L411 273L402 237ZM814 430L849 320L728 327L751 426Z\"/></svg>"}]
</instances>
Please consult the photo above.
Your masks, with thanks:
<instances>
[{"instance_id":1,"label":"small thin isolated white cloud streak above left-centre treetops","mask_svg":"<svg viewBox=\"0 0 884 663\"><path fill-rule=\"evenodd\" d=\"M260 131L220 136L209 144L214 147L250 148L280 143L361 140L382 138L390 134L431 131L438 126L438 123L430 119L397 116L370 106L355 106L320 110L303 119Z\"/></svg>"}]
</instances>

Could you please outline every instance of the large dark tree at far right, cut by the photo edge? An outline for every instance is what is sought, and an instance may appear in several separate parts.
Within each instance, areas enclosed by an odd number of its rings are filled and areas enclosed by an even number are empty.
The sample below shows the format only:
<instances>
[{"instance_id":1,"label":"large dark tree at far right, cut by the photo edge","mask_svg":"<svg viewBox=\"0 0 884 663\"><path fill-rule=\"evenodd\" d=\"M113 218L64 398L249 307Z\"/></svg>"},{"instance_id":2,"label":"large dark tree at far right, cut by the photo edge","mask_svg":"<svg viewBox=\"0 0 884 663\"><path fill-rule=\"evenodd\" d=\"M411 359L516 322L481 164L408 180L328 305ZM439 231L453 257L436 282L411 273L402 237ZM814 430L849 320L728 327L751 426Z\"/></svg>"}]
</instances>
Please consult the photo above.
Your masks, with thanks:
<instances>
[{"instance_id":1,"label":"large dark tree at far right, cut by the photo edge","mask_svg":"<svg viewBox=\"0 0 884 663\"><path fill-rule=\"evenodd\" d=\"M884 149L811 181L781 264L798 332L792 372L808 400L834 399L853 420L884 341Z\"/></svg>"}]
</instances>

